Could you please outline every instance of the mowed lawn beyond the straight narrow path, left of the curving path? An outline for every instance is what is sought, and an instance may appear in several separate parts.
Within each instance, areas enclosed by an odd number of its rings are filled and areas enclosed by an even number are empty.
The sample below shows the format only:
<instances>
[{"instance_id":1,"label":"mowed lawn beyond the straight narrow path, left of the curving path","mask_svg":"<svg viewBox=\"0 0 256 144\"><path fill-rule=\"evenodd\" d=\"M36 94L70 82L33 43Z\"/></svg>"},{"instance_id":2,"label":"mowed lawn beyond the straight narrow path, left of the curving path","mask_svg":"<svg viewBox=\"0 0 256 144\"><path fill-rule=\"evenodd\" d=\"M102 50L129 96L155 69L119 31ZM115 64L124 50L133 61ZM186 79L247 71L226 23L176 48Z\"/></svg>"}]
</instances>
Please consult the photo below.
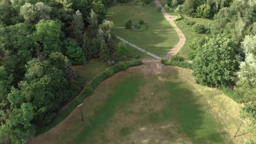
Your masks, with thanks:
<instances>
[{"instance_id":1,"label":"mowed lawn beyond the straight narrow path, left of the curving path","mask_svg":"<svg viewBox=\"0 0 256 144\"><path fill-rule=\"evenodd\" d=\"M138 13L139 10L141 13ZM116 27L125 27L129 19L133 24L142 19L145 24L141 29L115 29L115 34L157 56L165 56L179 41L178 35L163 14L157 12L153 2L146 6L115 4L108 9L107 19L113 21Z\"/></svg>"}]
</instances>

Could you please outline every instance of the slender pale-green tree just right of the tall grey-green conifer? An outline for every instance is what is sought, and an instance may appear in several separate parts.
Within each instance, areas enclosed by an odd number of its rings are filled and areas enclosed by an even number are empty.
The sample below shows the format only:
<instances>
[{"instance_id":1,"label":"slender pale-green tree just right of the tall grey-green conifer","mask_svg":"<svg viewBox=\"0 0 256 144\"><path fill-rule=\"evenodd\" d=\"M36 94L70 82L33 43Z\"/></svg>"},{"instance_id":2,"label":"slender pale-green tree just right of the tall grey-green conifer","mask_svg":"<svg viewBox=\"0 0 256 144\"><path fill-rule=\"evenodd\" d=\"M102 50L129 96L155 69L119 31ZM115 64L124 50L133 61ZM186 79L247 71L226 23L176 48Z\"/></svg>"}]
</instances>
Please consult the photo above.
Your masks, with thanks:
<instances>
[{"instance_id":1,"label":"slender pale-green tree just right of the tall grey-green conifer","mask_svg":"<svg viewBox=\"0 0 256 144\"><path fill-rule=\"evenodd\" d=\"M88 26L88 30L92 35L96 35L97 31L98 31L98 15L91 10L90 13L90 17L88 17L89 20L89 26Z\"/></svg>"}]
</instances>

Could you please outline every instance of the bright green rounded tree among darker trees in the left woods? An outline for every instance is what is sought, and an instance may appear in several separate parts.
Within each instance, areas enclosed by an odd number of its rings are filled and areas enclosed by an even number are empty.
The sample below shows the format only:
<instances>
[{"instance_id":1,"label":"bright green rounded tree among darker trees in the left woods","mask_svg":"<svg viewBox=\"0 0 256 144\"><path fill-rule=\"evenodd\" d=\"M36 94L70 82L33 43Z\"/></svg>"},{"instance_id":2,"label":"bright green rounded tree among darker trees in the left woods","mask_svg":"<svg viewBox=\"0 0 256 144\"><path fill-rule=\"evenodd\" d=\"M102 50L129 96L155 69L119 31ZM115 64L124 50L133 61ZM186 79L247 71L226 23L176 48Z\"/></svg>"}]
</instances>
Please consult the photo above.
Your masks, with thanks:
<instances>
[{"instance_id":1,"label":"bright green rounded tree among darker trees in the left woods","mask_svg":"<svg viewBox=\"0 0 256 144\"><path fill-rule=\"evenodd\" d=\"M53 52L61 51L61 25L57 21L43 19L35 27L34 39L40 45L37 51L41 51L42 48L46 56Z\"/></svg>"}]
</instances>

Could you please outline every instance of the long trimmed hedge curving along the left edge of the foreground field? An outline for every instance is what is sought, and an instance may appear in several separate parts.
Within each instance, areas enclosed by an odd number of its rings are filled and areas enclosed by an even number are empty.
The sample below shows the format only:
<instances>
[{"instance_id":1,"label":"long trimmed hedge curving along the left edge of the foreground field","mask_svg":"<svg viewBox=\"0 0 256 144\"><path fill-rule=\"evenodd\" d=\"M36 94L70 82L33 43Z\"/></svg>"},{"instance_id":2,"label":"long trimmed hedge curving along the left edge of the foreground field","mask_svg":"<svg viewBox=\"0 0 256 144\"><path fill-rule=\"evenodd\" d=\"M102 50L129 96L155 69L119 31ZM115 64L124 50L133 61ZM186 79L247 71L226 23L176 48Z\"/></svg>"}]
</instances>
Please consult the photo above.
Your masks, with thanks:
<instances>
[{"instance_id":1,"label":"long trimmed hedge curving along the left edge of the foreground field","mask_svg":"<svg viewBox=\"0 0 256 144\"><path fill-rule=\"evenodd\" d=\"M96 77L83 91L83 93L75 98L74 101L65 109L60 115L57 115L55 118L53 118L53 121L49 123L48 125L45 125L43 128L40 128L37 130L36 135L40 135L46 131L49 131L51 128L53 128L55 125L60 123L62 120L64 120L79 104L83 102L85 98L92 95L94 93L94 89L103 81L106 80L108 77L111 77L117 72L124 71L128 67L134 67L141 65L142 61L129 61L129 62L120 62L116 64L114 67L108 69L107 71L101 73Z\"/></svg>"}]
</instances>

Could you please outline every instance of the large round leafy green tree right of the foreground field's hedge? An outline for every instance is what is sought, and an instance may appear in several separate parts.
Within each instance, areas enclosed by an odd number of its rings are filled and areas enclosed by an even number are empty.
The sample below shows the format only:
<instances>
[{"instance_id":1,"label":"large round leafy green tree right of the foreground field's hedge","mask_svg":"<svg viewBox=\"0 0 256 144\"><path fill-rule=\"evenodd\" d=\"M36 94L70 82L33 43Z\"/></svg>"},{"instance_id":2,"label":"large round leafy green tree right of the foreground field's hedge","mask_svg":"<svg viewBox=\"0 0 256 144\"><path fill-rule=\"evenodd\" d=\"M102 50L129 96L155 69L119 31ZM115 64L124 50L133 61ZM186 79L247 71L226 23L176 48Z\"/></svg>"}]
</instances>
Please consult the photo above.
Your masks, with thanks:
<instances>
[{"instance_id":1,"label":"large round leafy green tree right of the foreground field's hedge","mask_svg":"<svg viewBox=\"0 0 256 144\"><path fill-rule=\"evenodd\" d=\"M193 61L194 76L197 83L219 87L232 82L237 71L235 48L231 40L217 35L197 49Z\"/></svg>"}]
</instances>

